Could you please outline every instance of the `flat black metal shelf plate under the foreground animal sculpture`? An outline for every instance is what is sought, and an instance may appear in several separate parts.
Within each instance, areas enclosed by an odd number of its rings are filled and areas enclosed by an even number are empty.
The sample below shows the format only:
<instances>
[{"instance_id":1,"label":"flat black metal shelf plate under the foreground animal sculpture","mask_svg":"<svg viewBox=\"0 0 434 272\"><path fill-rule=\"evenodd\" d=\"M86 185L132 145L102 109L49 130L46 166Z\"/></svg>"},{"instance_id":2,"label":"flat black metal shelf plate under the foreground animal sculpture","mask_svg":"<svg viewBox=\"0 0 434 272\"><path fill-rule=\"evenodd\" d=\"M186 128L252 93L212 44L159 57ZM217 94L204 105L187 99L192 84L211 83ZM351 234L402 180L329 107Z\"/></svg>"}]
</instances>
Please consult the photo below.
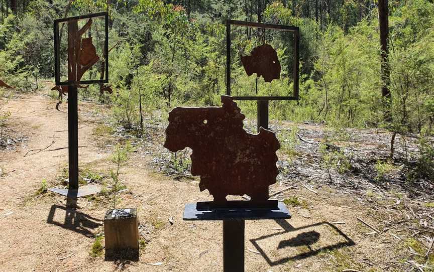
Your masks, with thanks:
<instances>
[{"instance_id":1,"label":"flat black metal shelf plate under the foreground animal sculpture","mask_svg":"<svg viewBox=\"0 0 434 272\"><path fill-rule=\"evenodd\" d=\"M248 201L245 201L248 202ZM218 208L197 209L197 203L185 205L184 220L259 220L259 219L289 219L291 214L285 204L278 202L276 208ZM199 204L199 206L202 204Z\"/></svg>"}]
</instances>

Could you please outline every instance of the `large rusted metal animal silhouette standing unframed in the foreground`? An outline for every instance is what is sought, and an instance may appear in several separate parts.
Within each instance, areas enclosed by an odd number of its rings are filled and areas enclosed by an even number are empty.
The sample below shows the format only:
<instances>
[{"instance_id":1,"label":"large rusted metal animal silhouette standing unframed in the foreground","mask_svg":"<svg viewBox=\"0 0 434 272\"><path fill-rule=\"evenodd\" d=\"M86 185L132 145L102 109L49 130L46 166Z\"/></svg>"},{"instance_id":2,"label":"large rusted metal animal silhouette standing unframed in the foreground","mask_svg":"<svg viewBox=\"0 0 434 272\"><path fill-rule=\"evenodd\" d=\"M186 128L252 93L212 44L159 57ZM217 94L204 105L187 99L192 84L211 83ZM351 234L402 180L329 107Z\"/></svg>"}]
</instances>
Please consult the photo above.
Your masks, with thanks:
<instances>
[{"instance_id":1,"label":"large rusted metal animal silhouette standing unframed in the foreground","mask_svg":"<svg viewBox=\"0 0 434 272\"><path fill-rule=\"evenodd\" d=\"M247 194L250 203L265 203L268 186L276 182L276 135L261 128L250 134L245 115L231 96L222 107L176 107L169 113L164 147L172 152L192 149L191 174L200 176L199 189L208 189L214 203L226 196Z\"/></svg>"}]
</instances>

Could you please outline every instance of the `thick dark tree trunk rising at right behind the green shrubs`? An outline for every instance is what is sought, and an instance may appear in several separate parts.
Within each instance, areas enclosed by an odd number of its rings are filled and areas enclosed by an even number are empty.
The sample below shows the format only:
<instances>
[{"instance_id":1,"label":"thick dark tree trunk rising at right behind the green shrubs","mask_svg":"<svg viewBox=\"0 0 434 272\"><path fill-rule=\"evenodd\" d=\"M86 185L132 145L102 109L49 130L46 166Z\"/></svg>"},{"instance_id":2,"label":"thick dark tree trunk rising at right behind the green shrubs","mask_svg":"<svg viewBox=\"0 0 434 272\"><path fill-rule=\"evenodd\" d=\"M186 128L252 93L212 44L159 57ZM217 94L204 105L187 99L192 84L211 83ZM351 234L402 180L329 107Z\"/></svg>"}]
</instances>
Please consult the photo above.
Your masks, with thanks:
<instances>
[{"instance_id":1,"label":"thick dark tree trunk rising at right behind the green shrubs","mask_svg":"<svg viewBox=\"0 0 434 272\"><path fill-rule=\"evenodd\" d=\"M384 101L384 118L390 121L390 69L389 49L387 46L389 38L389 9L388 0L378 0L378 22L380 24L380 45L381 45L381 94Z\"/></svg>"}]
</instances>

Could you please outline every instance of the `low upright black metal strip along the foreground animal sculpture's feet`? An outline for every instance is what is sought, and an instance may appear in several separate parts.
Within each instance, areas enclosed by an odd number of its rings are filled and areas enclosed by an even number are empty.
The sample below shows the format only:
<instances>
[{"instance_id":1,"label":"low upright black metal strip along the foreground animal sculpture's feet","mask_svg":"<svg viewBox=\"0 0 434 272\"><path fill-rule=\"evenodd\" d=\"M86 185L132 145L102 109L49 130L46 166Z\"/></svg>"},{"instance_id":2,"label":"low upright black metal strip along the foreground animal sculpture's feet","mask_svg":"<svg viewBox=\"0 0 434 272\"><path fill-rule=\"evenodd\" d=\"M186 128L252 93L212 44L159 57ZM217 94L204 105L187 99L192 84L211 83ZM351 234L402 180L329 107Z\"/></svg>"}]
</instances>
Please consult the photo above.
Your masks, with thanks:
<instances>
[{"instance_id":1,"label":"low upright black metal strip along the foreground animal sculpture's feet","mask_svg":"<svg viewBox=\"0 0 434 272\"><path fill-rule=\"evenodd\" d=\"M253 203L251 200L229 200L224 203L214 201L203 201L196 203L196 209L199 211L214 209L277 209L277 200L266 200L263 202Z\"/></svg>"}]
</instances>

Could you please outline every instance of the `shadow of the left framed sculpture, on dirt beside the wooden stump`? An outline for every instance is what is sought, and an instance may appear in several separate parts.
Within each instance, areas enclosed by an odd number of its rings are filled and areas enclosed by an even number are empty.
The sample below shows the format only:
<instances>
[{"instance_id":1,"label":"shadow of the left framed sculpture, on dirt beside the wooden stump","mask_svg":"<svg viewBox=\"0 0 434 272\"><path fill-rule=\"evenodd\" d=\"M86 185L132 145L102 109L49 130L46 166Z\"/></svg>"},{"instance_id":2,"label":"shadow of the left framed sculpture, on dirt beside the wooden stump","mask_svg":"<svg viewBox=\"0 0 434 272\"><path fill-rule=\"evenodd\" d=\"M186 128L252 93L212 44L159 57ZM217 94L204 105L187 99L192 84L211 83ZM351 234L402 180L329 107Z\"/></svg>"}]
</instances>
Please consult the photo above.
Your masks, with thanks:
<instances>
[{"instance_id":1,"label":"shadow of the left framed sculpture, on dirt beside the wooden stump","mask_svg":"<svg viewBox=\"0 0 434 272\"><path fill-rule=\"evenodd\" d=\"M75 203L68 203L67 200L66 207L52 205L50 213L48 214L47 223L75 231L89 238L93 237L92 230L101 226L102 221L85 213L78 212L76 208L73 207L74 204ZM65 220L63 223L54 221L54 214L57 209L65 211Z\"/></svg>"}]
</instances>

